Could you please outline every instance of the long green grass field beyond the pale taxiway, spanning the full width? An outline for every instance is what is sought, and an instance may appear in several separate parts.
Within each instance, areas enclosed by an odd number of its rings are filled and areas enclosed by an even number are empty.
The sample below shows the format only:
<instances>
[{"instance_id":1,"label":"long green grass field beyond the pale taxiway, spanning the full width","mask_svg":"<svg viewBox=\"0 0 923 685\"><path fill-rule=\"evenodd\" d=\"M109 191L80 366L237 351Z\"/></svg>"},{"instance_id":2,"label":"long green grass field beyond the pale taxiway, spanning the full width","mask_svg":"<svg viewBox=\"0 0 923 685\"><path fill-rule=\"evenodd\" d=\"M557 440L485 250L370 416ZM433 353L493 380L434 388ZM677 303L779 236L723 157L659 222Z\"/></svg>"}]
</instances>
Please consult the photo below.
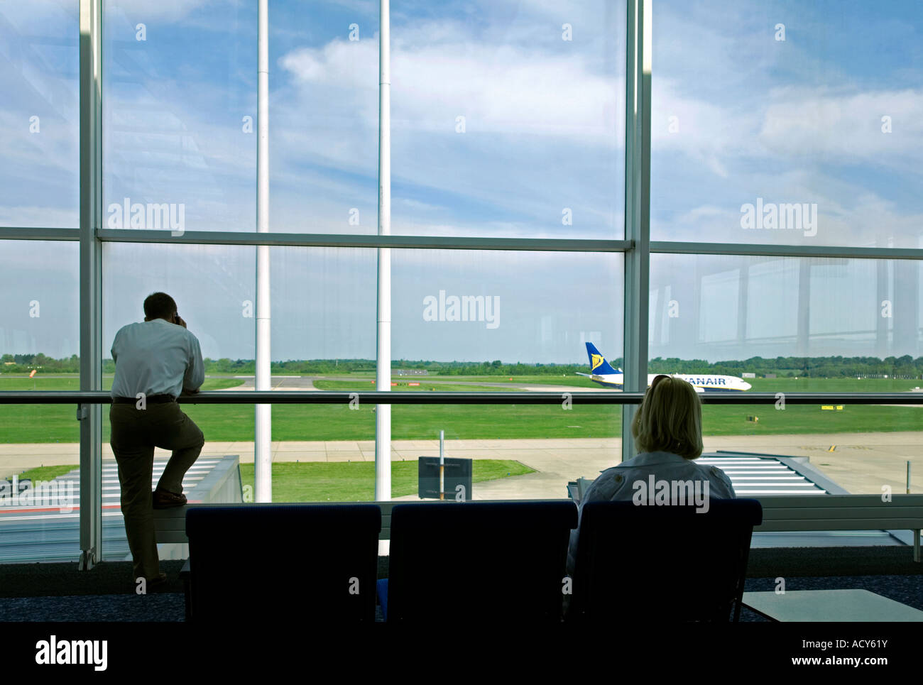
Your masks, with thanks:
<instances>
[{"instance_id":1,"label":"long green grass field beyond the pale taxiway, spanning the full width","mask_svg":"<svg viewBox=\"0 0 923 685\"><path fill-rule=\"evenodd\" d=\"M442 377L443 379L503 382L509 377ZM513 383L551 384L553 381L581 384L588 379L573 377L525 377ZM112 379L103 379L108 388ZM356 390L371 387L358 374L342 379L318 380L326 390ZM203 390L236 387L241 379L207 379ZM403 382L403 381L402 381ZM411 379L410 382L417 382ZM426 390L420 379L419 390ZM510 381L507 380L507 383ZM919 380L893 379L750 379L753 391L907 391ZM365 384L362 384L365 383ZM73 378L0 378L0 391L78 390ZM497 387L439 384L438 390L504 390ZM395 391L418 388L397 386ZM920 397L923 404L923 395ZM183 409L210 441L253 440L254 408L246 404L191 404ZM373 407L361 404L351 410L343 404L276 404L272 407L273 440L371 440L375 439ZM108 412L108 409L104 409ZM79 441L74 407L69 404L0 404L0 442L67 442ZM759 417L749 422L748 415ZM437 439L445 430L447 439L546 439L546 438L617 438L621 435L621 409L616 404L573 405L563 411L558 405L543 404L395 404L391 408L391 437ZM772 404L706 405L702 408L705 435L781 435L797 433L890 432L923 430L923 408L912 406L845 405L842 412L821 411L820 405L788 404L776 411ZM109 441L109 421L103 415L103 441Z\"/></svg>"}]
</instances>

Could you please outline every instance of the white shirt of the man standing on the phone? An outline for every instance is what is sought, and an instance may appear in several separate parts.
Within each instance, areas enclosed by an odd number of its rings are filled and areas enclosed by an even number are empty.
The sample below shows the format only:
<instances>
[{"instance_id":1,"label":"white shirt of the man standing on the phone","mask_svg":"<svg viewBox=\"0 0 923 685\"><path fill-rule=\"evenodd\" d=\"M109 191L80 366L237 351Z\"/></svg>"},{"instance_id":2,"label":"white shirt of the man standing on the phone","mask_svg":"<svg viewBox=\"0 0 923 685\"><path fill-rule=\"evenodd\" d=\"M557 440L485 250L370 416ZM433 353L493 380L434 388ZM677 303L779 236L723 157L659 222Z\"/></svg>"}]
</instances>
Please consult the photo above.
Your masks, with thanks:
<instances>
[{"instance_id":1,"label":"white shirt of the man standing on the phone","mask_svg":"<svg viewBox=\"0 0 923 685\"><path fill-rule=\"evenodd\" d=\"M197 391L205 381L198 338L163 318L130 323L115 333L113 397Z\"/></svg>"}]
</instances>

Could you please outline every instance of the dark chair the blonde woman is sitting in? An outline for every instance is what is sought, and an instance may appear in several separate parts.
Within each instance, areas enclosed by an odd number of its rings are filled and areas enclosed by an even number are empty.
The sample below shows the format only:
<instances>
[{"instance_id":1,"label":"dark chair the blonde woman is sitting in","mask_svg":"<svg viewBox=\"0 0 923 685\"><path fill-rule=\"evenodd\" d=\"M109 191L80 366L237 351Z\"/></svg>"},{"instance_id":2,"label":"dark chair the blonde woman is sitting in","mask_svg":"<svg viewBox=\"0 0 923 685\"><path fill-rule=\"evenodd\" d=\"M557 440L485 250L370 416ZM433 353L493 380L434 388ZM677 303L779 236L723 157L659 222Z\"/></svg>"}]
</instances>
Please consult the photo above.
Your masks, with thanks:
<instances>
[{"instance_id":1,"label":"dark chair the blonde woman is sitting in","mask_svg":"<svg viewBox=\"0 0 923 685\"><path fill-rule=\"evenodd\" d=\"M694 506L588 502L568 620L727 621L740 617L756 499Z\"/></svg>"}]
</instances>

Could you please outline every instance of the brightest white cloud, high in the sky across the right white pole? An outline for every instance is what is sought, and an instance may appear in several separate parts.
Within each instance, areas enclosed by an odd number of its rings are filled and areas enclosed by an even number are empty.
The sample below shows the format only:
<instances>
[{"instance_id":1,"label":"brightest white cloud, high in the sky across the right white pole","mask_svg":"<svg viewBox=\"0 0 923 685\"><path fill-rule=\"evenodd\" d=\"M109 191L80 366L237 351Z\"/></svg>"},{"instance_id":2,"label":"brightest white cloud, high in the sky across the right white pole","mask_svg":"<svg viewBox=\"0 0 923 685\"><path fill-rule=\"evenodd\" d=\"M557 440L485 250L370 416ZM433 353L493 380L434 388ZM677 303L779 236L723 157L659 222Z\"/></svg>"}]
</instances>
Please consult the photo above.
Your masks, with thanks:
<instances>
[{"instance_id":1,"label":"brightest white cloud, high in the sky across the right white pole","mask_svg":"<svg viewBox=\"0 0 923 685\"><path fill-rule=\"evenodd\" d=\"M301 48L282 56L280 66L314 93L330 88L340 97L334 107L349 103L377 122L378 99L367 97L378 90L377 41ZM392 34L394 128L451 132L463 115L471 132L532 133L616 148L620 102L617 81L593 73L581 54L476 42L455 22L426 22Z\"/></svg>"}]
</instances>

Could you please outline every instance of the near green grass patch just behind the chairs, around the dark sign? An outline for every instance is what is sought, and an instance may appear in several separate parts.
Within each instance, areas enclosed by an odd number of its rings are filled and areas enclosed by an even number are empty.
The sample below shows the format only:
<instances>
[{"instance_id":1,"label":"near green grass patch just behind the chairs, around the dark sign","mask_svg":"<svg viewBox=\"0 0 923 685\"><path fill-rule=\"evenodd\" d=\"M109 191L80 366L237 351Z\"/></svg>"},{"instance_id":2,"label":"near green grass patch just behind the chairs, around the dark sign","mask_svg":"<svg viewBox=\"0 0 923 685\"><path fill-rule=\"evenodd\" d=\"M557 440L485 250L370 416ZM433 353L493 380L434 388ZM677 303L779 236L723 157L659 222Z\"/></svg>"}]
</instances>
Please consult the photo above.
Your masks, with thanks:
<instances>
[{"instance_id":1,"label":"near green grass patch just behind the chairs, around the dark sign","mask_svg":"<svg viewBox=\"0 0 923 685\"><path fill-rule=\"evenodd\" d=\"M391 497L417 493L417 468L415 461L391 463ZM533 469L519 462L476 459L472 480L482 483L531 473ZM253 487L252 463L242 463L240 475L245 487ZM278 502L370 501L375 499L375 463L273 463L272 499Z\"/></svg>"}]
</instances>

